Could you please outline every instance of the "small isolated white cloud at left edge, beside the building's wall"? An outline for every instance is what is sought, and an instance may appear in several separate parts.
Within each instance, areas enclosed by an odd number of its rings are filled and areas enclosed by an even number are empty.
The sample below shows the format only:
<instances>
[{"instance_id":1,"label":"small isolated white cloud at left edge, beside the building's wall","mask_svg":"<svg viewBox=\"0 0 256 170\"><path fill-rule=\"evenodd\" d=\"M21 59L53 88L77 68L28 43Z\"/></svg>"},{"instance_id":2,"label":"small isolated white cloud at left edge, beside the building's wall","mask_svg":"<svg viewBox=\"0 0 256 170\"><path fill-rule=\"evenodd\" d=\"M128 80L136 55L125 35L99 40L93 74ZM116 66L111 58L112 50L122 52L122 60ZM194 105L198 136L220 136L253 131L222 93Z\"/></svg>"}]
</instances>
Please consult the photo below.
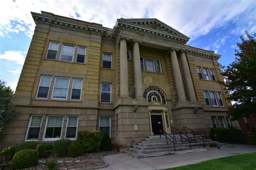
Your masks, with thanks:
<instances>
[{"instance_id":1,"label":"small isolated white cloud at left edge, beside the building's wall","mask_svg":"<svg viewBox=\"0 0 256 170\"><path fill-rule=\"evenodd\" d=\"M4 54L0 54L0 59L14 61L19 65L23 65L25 61L26 52L21 51L6 51Z\"/></svg>"}]
</instances>

